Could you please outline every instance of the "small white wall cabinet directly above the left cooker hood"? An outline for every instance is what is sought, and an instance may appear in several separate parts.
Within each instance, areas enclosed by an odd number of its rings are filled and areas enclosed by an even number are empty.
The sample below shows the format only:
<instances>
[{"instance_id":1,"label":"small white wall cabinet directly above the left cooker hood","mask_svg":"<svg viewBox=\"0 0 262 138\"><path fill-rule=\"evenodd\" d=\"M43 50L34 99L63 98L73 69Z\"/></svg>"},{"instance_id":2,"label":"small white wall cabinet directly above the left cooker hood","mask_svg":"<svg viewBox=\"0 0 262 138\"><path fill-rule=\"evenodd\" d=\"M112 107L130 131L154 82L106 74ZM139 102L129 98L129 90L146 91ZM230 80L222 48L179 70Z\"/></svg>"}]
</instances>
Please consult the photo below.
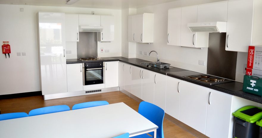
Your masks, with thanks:
<instances>
[{"instance_id":1,"label":"small white wall cabinet directly above the left cooker hood","mask_svg":"<svg viewBox=\"0 0 262 138\"><path fill-rule=\"evenodd\" d=\"M101 26L101 15L79 14L79 26Z\"/></svg>"}]
</instances>

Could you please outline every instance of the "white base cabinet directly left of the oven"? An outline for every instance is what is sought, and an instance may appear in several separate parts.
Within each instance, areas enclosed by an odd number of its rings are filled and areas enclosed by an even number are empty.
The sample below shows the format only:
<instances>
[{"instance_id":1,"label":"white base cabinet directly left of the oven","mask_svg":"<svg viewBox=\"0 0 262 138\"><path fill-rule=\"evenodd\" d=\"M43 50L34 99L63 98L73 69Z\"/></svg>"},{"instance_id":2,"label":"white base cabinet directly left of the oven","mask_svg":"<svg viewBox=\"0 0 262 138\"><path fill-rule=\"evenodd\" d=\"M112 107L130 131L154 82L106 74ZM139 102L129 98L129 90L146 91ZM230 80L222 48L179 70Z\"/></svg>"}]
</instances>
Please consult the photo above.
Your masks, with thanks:
<instances>
[{"instance_id":1,"label":"white base cabinet directly left of the oven","mask_svg":"<svg viewBox=\"0 0 262 138\"><path fill-rule=\"evenodd\" d=\"M82 63L66 64L67 91L83 90L83 69Z\"/></svg>"}]
</instances>

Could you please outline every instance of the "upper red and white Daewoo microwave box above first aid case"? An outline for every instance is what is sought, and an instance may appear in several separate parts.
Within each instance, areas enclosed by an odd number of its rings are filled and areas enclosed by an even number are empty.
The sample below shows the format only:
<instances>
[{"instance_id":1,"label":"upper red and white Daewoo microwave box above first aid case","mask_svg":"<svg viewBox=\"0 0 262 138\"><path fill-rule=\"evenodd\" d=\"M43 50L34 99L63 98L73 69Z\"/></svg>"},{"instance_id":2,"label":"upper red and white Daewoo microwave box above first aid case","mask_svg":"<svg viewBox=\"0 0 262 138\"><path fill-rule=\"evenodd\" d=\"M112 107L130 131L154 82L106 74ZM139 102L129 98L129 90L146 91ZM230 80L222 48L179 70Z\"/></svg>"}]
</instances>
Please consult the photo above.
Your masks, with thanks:
<instances>
[{"instance_id":1,"label":"upper red and white Daewoo microwave box above first aid case","mask_svg":"<svg viewBox=\"0 0 262 138\"><path fill-rule=\"evenodd\" d=\"M249 46L247 68L262 70L262 46Z\"/></svg>"}]
</instances>

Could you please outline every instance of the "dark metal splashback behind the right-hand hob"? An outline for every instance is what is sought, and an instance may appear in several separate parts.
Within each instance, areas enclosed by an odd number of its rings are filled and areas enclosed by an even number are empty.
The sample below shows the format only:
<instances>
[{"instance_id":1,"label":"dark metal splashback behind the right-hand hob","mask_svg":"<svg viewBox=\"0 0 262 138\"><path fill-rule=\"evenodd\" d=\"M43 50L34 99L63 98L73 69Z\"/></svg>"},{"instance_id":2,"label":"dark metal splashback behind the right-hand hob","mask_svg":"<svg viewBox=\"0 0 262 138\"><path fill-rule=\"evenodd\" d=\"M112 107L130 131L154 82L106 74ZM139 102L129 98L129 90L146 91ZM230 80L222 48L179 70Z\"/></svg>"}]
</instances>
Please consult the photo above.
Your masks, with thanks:
<instances>
[{"instance_id":1,"label":"dark metal splashback behind the right-hand hob","mask_svg":"<svg viewBox=\"0 0 262 138\"><path fill-rule=\"evenodd\" d=\"M207 74L235 80L237 52L225 45L226 33L209 33Z\"/></svg>"}]
</instances>

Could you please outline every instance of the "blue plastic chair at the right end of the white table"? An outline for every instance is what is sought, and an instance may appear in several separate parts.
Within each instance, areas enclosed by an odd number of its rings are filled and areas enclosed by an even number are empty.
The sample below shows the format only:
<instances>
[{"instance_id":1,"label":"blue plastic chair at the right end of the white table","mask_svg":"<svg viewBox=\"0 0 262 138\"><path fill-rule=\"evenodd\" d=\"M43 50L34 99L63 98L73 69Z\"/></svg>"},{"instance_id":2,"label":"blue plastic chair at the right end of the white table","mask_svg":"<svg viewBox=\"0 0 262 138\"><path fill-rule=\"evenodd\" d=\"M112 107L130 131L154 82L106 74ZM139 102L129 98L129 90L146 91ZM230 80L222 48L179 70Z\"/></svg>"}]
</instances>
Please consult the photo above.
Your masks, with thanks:
<instances>
[{"instance_id":1,"label":"blue plastic chair at the right end of the white table","mask_svg":"<svg viewBox=\"0 0 262 138\"><path fill-rule=\"evenodd\" d=\"M154 104L143 101L139 104L138 113L158 126L157 138L164 138L163 119L165 112L163 109ZM150 132L149 134L152 136L154 135L153 132Z\"/></svg>"}]
</instances>

